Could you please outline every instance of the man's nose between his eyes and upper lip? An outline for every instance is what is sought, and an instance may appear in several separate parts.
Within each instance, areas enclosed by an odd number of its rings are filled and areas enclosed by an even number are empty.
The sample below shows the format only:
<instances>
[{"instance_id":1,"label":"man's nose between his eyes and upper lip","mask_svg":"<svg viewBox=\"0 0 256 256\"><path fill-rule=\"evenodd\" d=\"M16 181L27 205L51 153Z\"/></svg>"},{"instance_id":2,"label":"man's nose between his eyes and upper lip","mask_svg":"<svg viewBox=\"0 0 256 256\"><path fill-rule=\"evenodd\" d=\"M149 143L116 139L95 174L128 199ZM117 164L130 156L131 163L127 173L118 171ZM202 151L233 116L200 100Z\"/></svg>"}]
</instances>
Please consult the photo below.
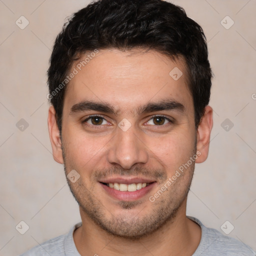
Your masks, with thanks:
<instances>
[{"instance_id":1,"label":"man's nose between his eyes and upper lip","mask_svg":"<svg viewBox=\"0 0 256 256\"><path fill-rule=\"evenodd\" d=\"M137 163L146 163L148 160L147 146L141 136L135 134L134 127L124 131L116 127L115 136L111 139L107 153L109 163L119 164L124 169L130 169Z\"/></svg>"}]
</instances>

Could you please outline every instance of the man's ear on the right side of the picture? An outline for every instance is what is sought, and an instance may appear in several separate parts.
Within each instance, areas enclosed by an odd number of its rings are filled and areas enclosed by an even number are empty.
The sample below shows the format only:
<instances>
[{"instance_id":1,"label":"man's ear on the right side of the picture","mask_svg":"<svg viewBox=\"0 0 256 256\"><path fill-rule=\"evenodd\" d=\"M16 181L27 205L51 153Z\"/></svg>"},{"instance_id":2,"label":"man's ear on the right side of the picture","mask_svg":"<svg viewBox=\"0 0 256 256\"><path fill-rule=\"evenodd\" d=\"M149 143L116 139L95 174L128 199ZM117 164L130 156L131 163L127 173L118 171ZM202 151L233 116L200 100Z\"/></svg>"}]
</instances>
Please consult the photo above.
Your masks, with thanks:
<instances>
[{"instance_id":1,"label":"man's ear on the right side of the picture","mask_svg":"<svg viewBox=\"0 0 256 256\"><path fill-rule=\"evenodd\" d=\"M196 163L205 161L208 156L212 124L212 108L207 105L204 108L204 115L197 128L196 151L198 152L198 157L195 160Z\"/></svg>"}]
</instances>

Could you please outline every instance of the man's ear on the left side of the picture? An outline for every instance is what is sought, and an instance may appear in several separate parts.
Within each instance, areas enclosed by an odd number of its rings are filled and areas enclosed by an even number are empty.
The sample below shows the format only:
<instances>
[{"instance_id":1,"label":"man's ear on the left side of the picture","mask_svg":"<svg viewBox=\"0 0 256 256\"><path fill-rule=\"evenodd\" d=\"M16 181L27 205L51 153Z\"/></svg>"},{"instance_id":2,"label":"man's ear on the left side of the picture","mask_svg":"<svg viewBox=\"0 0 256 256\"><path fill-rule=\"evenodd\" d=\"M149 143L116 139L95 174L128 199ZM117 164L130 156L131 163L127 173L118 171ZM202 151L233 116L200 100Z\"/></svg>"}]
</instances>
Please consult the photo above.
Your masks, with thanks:
<instances>
[{"instance_id":1,"label":"man's ear on the left side of the picture","mask_svg":"<svg viewBox=\"0 0 256 256\"><path fill-rule=\"evenodd\" d=\"M50 143L54 160L58 163L63 163L60 133L55 114L56 112L54 107L50 106L48 111L48 130L50 136Z\"/></svg>"}]
</instances>

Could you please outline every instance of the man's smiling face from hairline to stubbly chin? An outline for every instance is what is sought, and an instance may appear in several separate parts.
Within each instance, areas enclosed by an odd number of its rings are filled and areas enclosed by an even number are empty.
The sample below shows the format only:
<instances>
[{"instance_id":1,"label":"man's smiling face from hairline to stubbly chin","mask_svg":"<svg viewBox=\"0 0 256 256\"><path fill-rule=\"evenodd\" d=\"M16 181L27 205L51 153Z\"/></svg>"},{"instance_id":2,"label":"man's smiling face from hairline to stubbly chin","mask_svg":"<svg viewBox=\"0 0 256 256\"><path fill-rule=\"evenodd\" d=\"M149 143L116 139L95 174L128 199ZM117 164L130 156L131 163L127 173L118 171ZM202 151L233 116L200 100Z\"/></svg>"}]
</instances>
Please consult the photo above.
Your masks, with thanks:
<instances>
[{"instance_id":1,"label":"man's smiling face from hairline to stubbly chin","mask_svg":"<svg viewBox=\"0 0 256 256\"><path fill-rule=\"evenodd\" d=\"M184 62L99 50L66 89L61 142L51 142L66 175L79 177L67 181L82 214L122 237L157 230L184 203L201 154Z\"/></svg>"}]
</instances>

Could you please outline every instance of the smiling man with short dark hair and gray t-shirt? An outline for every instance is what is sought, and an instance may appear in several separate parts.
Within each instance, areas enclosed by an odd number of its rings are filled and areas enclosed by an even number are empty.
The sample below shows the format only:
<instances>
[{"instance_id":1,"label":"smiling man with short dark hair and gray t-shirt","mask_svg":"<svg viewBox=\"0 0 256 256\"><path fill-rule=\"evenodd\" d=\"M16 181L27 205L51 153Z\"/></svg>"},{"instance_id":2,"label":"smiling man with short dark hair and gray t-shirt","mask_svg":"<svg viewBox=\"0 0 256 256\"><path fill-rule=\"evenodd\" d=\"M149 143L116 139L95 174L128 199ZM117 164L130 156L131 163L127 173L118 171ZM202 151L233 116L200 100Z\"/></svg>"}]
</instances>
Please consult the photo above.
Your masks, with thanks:
<instances>
[{"instance_id":1,"label":"smiling man with short dark hair and gray t-shirt","mask_svg":"<svg viewBox=\"0 0 256 256\"><path fill-rule=\"evenodd\" d=\"M186 216L212 108L204 33L181 7L89 4L57 36L48 85L53 157L82 221L23 256L255 255Z\"/></svg>"}]
</instances>

